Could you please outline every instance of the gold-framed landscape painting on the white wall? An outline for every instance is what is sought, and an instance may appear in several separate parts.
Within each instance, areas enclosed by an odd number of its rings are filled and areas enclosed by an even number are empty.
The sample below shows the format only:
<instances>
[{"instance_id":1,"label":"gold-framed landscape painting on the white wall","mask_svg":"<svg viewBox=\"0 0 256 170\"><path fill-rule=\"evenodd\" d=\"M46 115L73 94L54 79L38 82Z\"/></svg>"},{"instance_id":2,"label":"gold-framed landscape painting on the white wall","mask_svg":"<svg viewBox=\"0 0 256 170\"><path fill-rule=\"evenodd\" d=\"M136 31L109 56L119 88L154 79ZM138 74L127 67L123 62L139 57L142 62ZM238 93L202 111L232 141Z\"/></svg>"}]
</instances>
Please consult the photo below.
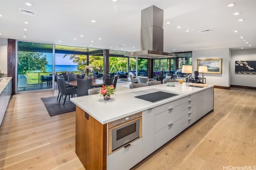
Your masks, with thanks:
<instances>
[{"instance_id":1,"label":"gold-framed landscape painting on the white wall","mask_svg":"<svg viewBox=\"0 0 256 170\"><path fill-rule=\"evenodd\" d=\"M197 70L199 66L207 66L209 74L222 74L222 59L197 59Z\"/></svg>"}]
</instances>

